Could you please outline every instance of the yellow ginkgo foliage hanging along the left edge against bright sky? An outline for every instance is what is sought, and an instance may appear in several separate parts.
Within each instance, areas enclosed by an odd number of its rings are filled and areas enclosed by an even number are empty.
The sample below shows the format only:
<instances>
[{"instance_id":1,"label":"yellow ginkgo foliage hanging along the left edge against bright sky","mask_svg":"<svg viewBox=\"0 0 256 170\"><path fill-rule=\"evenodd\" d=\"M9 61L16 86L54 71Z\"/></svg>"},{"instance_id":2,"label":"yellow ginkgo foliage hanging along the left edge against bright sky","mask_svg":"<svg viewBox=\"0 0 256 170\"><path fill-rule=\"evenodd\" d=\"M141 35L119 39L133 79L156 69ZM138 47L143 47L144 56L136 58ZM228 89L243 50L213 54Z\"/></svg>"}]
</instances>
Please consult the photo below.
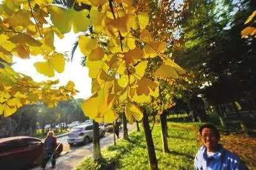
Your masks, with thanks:
<instances>
[{"instance_id":1,"label":"yellow ginkgo foliage hanging along the left edge against bright sky","mask_svg":"<svg viewBox=\"0 0 256 170\"><path fill-rule=\"evenodd\" d=\"M35 63L38 72L49 77L64 71L64 55L55 52L54 26L46 26L47 1L3 1L0 8L0 116L10 116L23 105L42 101L53 107L60 100L76 94L74 82L59 86L56 81L35 82L29 76L15 72L10 65L13 56L28 59L43 55L44 61Z\"/></svg>"}]
</instances>

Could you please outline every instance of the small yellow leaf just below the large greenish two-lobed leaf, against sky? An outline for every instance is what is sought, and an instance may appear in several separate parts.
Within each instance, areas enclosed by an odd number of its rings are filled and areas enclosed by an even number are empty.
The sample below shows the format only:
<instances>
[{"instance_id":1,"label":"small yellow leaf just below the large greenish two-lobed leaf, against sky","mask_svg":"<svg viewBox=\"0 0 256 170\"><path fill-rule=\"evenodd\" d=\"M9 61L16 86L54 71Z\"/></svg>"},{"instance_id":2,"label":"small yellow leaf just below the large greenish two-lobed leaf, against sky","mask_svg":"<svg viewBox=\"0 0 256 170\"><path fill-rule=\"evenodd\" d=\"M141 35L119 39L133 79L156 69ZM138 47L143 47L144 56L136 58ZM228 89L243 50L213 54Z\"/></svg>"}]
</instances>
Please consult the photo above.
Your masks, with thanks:
<instances>
[{"instance_id":1,"label":"small yellow leaf just below the large greenish two-lobed leaf, against sky","mask_svg":"<svg viewBox=\"0 0 256 170\"><path fill-rule=\"evenodd\" d=\"M98 47L98 41L96 38L90 38L82 35L78 39L78 45L81 52L88 56L92 50Z\"/></svg>"}]
</instances>

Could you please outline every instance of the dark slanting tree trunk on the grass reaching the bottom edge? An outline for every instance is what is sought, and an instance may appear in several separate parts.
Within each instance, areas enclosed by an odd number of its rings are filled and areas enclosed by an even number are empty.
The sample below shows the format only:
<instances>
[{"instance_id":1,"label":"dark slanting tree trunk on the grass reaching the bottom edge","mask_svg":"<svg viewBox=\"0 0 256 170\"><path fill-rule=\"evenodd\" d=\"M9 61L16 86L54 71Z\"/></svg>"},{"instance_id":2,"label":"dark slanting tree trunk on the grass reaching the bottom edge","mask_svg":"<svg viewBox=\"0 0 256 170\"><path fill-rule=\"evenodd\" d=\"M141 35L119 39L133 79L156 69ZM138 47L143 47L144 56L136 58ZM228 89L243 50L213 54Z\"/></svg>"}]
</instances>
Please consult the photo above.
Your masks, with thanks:
<instances>
[{"instance_id":1,"label":"dark slanting tree trunk on the grass reaching the bottom edge","mask_svg":"<svg viewBox=\"0 0 256 170\"><path fill-rule=\"evenodd\" d=\"M158 161L156 160L156 152L154 151L154 143L149 127L148 115L145 110L143 111L143 128L148 147L149 166L151 170L156 170L158 169Z\"/></svg>"}]
</instances>

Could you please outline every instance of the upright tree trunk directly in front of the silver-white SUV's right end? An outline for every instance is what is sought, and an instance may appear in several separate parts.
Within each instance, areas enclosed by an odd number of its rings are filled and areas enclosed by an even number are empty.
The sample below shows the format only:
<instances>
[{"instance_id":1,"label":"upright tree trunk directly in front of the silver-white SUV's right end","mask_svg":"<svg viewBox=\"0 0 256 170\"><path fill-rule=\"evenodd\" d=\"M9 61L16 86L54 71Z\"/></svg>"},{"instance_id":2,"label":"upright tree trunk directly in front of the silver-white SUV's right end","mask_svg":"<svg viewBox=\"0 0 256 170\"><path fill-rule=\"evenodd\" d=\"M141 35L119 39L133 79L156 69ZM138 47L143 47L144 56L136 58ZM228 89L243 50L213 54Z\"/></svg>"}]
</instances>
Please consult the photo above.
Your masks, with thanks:
<instances>
[{"instance_id":1,"label":"upright tree trunk directly in front of the silver-white SUV's right end","mask_svg":"<svg viewBox=\"0 0 256 170\"><path fill-rule=\"evenodd\" d=\"M98 161L102 158L100 153L100 130L98 122L93 120L93 161Z\"/></svg>"}]
</instances>

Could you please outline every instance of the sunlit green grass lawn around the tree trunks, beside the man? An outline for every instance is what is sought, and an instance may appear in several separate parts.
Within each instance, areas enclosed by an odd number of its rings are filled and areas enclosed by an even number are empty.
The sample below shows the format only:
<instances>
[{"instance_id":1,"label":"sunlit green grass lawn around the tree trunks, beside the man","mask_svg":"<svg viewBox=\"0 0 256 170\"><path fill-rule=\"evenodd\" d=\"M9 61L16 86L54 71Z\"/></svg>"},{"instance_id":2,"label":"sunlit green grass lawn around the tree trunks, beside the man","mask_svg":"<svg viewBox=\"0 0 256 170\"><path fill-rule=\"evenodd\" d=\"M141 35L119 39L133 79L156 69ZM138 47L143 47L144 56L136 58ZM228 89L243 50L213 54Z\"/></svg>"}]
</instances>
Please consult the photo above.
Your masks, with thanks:
<instances>
[{"instance_id":1,"label":"sunlit green grass lawn around the tree trunks, beside the man","mask_svg":"<svg viewBox=\"0 0 256 170\"><path fill-rule=\"evenodd\" d=\"M199 148L198 123L168 123L168 147L170 154L163 154L161 127L155 125L152 135L159 169L193 169L194 156ZM142 128L141 128L142 129ZM144 132L132 132L130 141L119 140L117 146L102 150L100 163L84 159L76 169L149 169L148 150Z\"/></svg>"}]
</instances>

